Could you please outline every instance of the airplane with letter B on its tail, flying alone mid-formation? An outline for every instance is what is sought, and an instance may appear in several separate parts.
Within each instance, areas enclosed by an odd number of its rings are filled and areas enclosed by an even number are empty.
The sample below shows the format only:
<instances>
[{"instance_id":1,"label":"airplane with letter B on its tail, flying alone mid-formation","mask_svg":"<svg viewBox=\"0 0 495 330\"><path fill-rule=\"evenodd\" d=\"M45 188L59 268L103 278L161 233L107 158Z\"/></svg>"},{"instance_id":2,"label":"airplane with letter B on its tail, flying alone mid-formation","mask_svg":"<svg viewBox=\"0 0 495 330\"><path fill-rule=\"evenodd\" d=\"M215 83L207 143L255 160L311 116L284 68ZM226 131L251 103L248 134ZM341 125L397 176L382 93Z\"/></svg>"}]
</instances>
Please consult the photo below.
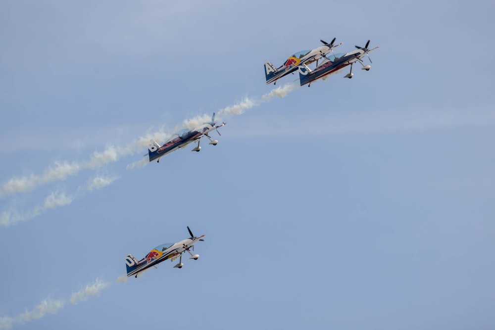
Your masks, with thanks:
<instances>
[{"instance_id":1,"label":"airplane with letter B on its tail, flying alone mid-formation","mask_svg":"<svg viewBox=\"0 0 495 330\"><path fill-rule=\"evenodd\" d=\"M199 146L199 139L201 139L203 136L207 137L210 140L209 144L217 145L218 140L211 140L211 137L208 135L208 133L214 130L218 130L220 127L226 125L227 123L222 123L222 125L218 126L215 126L215 124L215 113L213 112L211 122L204 123L203 125L198 126L192 130L184 129L176 132L163 145L159 145L158 143L156 143L156 141L151 140L151 143L148 145L149 161L151 162L155 159L158 159L156 162L159 163L160 157L165 156L167 153L170 153L172 151L183 148L193 141L198 141L198 145L194 147L192 151L199 152L199 150L201 150L201 147ZM221 136L220 132L217 131L217 133Z\"/></svg>"}]
</instances>

